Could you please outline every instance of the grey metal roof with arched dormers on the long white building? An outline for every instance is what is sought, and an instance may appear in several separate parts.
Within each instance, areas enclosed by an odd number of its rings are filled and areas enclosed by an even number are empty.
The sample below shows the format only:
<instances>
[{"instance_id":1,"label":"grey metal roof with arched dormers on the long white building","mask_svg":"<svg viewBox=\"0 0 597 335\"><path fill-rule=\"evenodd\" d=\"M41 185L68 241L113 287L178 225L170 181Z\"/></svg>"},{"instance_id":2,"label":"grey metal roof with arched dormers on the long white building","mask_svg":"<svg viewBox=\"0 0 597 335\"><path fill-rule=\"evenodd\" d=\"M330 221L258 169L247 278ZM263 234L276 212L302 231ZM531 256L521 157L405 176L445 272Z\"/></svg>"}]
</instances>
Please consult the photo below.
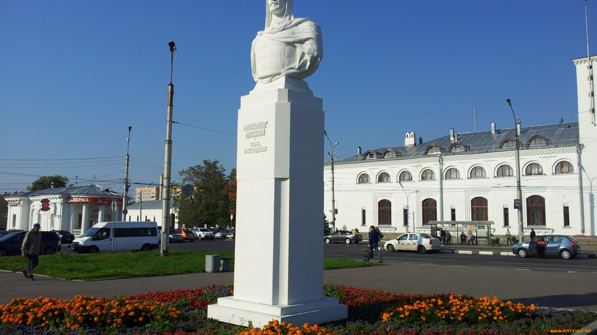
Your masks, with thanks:
<instances>
[{"instance_id":1,"label":"grey metal roof with arched dormers on the long white building","mask_svg":"<svg viewBox=\"0 0 597 335\"><path fill-rule=\"evenodd\" d=\"M408 147L403 145L401 147L377 148L365 151L365 153L360 155L334 160L334 164L430 157L433 154L427 154L427 150L433 145L439 147L441 154L444 156L514 150L513 147L502 148L501 146L507 139L514 139L516 132L515 128L496 129L495 134L491 134L491 132L492 131L465 132L456 134L457 139L450 139L450 135L447 135L433 139L432 141L424 142L423 144L410 145ZM533 146L530 146L529 144L534 137L543 137L545 139L546 145L541 145L540 147L559 147L562 145L578 144L578 122L521 127L521 135L519 137L521 148L532 148ZM463 144L466 150L450 152L453 144ZM383 158L383 154L389 150L395 151L396 156ZM365 159L365 155L371 151L375 153L376 158ZM329 162L326 163L326 165L329 164Z\"/></svg>"}]
</instances>

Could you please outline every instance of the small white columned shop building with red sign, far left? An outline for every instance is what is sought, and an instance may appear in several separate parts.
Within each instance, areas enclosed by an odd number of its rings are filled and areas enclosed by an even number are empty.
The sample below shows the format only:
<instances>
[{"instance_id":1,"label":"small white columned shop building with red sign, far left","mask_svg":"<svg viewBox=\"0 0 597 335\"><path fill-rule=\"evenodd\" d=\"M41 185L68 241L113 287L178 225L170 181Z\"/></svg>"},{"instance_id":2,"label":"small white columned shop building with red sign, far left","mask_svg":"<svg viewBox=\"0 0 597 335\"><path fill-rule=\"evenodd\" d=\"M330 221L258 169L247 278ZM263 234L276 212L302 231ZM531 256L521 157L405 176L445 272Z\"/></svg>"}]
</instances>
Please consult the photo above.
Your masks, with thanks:
<instances>
[{"instance_id":1,"label":"small white columned shop building with red sign, far left","mask_svg":"<svg viewBox=\"0 0 597 335\"><path fill-rule=\"evenodd\" d=\"M100 221L112 219L110 203L119 204L116 221L121 220L122 195L98 185L50 188L7 196L7 229L67 230L81 234ZM42 200L49 200L49 210L42 210Z\"/></svg>"}]
</instances>

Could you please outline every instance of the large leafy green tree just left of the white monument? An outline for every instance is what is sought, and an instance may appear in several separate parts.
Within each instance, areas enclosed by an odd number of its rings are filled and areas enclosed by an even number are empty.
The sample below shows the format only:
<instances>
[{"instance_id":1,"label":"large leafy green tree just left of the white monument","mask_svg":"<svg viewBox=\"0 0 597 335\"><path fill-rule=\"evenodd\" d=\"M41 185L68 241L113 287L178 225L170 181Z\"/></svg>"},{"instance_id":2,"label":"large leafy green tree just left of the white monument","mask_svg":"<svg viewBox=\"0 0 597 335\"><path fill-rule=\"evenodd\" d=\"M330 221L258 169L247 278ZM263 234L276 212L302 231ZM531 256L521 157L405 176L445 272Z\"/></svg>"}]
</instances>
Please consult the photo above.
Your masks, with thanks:
<instances>
[{"instance_id":1,"label":"large leafy green tree just left of the white monument","mask_svg":"<svg viewBox=\"0 0 597 335\"><path fill-rule=\"evenodd\" d=\"M179 221L187 227L204 224L225 226L229 224L230 200L222 191L229 183L226 169L217 160L204 160L202 165L181 170L182 183L191 184L195 191L191 197L177 192L172 194L174 206L179 208Z\"/></svg>"}]
</instances>

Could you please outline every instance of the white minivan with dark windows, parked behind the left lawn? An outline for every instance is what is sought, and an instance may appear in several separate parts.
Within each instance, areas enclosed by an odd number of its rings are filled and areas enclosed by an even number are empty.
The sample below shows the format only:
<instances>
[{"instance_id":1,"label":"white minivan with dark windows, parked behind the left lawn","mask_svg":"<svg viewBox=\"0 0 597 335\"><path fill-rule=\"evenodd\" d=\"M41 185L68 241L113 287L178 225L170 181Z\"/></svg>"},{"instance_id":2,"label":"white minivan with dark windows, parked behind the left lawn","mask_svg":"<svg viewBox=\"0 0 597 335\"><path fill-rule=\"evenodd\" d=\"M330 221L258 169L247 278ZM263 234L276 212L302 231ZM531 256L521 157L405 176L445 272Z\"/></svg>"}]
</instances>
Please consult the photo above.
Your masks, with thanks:
<instances>
[{"instance_id":1,"label":"white minivan with dark windows, parked behind the left lawn","mask_svg":"<svg viewBox=\"0 0 597 335\"><path fill-rule=\"evenodd\" d=\"M98 253L116 250L151 251L157 249L158 224L151 221L99 222L85 234L75 238L70 249L77 253Z\"/></svg>"}]
</instances>

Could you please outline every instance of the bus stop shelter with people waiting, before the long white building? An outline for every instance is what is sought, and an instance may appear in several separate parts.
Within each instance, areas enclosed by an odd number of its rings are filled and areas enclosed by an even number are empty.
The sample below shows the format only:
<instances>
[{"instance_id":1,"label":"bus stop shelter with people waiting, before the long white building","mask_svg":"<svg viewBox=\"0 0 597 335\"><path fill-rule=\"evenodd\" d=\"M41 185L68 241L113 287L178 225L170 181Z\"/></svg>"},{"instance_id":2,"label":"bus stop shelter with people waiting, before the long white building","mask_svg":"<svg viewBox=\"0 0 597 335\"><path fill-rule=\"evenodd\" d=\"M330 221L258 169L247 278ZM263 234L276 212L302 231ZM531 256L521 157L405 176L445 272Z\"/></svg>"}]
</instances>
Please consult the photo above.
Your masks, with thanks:
<instances>
[{"instance_id":1,"label":"bus stop shelter with people waiting, before the long white building","mask_svg":"<svg viewBox=\"0 0 597 335\"><path fill-rule=\"evenodd\" d=\"M469 235L469 232L477 240L476 244L487 244L491 246L491 225L493 221L429 221L427 226L431 229L431 235L439 238L439 228L444 231L449 231L451 238L450 243L458 244L460 242L460 234ZM426 227L427 228L427 227Z\"/></svg>"}]
</instances>

